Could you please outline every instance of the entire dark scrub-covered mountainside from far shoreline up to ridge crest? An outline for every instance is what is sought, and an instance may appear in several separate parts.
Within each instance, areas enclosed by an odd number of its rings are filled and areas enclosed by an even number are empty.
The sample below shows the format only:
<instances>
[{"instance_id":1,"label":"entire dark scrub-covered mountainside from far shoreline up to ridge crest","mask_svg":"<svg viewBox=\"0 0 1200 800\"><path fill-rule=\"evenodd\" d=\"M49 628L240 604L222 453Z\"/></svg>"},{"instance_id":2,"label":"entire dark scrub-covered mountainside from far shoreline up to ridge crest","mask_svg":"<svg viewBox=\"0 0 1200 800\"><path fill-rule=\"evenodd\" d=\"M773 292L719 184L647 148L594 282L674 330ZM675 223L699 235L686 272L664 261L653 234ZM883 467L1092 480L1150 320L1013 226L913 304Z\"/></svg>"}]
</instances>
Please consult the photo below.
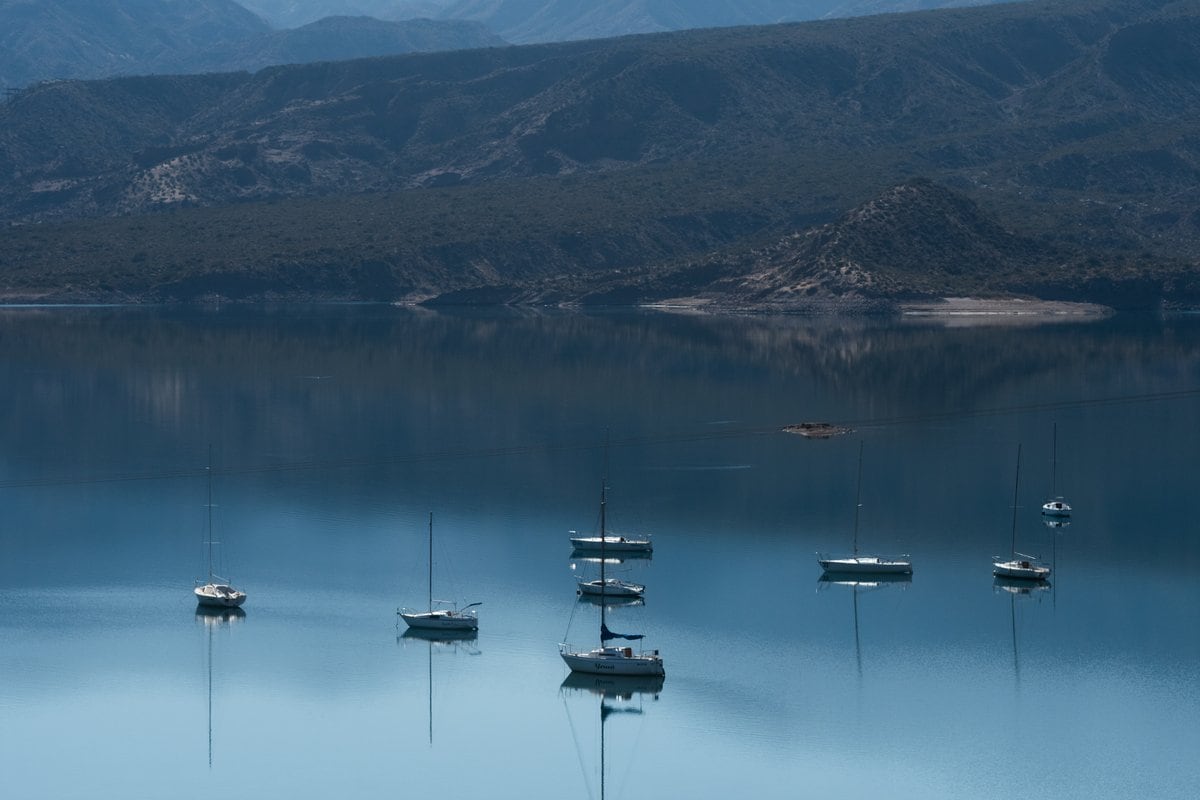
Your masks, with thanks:
<instances>
[{"instance_id":1,"label":"entire dark scrub-covered mountainside from far shoreline up to ridge crest","mask_svg":"<svg viewBox=\"0 0 1200 800\"><path fill-rule=\"evenodd\" d=\"M1195 0L1039 0L40 85L0 106L0 275L43 300L1194 305L1198 70Z\"/></svg>"}]
</instances>

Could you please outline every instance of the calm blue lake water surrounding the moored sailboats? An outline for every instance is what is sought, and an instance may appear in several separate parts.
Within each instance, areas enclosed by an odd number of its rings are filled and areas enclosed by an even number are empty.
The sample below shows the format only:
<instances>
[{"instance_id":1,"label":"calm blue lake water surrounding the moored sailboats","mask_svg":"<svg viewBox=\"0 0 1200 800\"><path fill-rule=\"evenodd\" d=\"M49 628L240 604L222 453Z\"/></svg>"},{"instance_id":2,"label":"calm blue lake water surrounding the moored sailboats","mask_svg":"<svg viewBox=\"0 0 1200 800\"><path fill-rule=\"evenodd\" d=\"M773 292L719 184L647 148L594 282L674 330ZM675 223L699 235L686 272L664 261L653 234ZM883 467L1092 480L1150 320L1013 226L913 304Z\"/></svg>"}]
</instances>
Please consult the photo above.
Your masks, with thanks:
<instances>
[{"instance_id":1,"label":"calm blue lake water surrounding the moored sailboats","mask_svg":"<svg viewBox=\"0 0 1200 800\"><path fill-rule=\"evenodd\" d=\"M4 798L1200 792L1198 318L13 308L0 385ZM911 581L818 581L860 444L859 541ZM239 615L191 595L210 445ZM558 657L605 471L655 542L610 626L661 684ZM473 638L396 625L430 512Z\"/></svg>"}]
</instances>

